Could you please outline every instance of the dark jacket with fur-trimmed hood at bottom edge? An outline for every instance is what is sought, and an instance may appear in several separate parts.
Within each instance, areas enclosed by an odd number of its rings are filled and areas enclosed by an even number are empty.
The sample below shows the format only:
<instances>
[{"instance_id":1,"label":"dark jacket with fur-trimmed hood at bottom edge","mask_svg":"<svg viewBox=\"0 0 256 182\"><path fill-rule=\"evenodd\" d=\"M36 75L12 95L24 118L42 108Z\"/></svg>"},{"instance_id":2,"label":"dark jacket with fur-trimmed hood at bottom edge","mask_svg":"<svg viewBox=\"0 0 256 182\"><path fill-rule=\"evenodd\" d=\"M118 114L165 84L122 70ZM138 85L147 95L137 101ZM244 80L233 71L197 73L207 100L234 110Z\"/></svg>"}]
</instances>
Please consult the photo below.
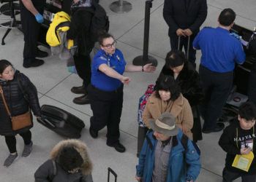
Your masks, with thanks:
<instances>
[{"instance_id":1,"label":"dark jacket with fur-trimmed hood at bottom edge","mask_svg":"<svg viewBox=\"0 0 256 182\"><path fill-rule=\"evenodd\" d=\"M83 165L78 173L68 173L56 162L56 174L54 174L53 161L57 161L60 151L64 147L74 147L83 158ZM82 141L69 139L59 142L50 152L50 159L43 163L34 173L35 182L93 182L92 163L87 152L87 146Z\"/></svg>"}]
</instances>

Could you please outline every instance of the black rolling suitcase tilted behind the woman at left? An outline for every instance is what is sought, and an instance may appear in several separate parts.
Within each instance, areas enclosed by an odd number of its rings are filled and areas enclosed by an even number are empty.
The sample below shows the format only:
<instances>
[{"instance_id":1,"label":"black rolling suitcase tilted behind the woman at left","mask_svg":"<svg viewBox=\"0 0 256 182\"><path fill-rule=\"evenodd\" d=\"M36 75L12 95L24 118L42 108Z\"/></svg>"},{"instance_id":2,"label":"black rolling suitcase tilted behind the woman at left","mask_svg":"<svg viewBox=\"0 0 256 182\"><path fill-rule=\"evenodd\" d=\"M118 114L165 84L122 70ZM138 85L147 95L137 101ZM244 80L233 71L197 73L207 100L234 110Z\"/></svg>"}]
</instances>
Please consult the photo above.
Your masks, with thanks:
<instances>
[{"instance_id":1,"label":"black rolling suitcase tilted behind the woman at left","mask_svg":"<svg viewBox=\"0 0 256 182\"><path fill-rule=\"evenodd\" d=\"M66 138L80 138L80 132L85 127L81 119L68 111L50 105L42 105L42 118L37 121Z\"/></svg>"}]
</instances>

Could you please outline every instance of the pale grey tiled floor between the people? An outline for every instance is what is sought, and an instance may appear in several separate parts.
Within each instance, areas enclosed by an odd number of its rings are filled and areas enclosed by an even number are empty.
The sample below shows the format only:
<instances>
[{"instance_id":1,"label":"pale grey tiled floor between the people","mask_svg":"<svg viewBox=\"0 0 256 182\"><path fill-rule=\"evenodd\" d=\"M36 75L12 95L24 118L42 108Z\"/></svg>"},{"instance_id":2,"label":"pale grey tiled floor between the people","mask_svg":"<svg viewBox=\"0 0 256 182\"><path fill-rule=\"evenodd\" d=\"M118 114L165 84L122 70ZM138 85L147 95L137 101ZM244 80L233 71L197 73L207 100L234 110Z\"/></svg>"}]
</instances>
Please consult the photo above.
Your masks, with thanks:
<instances>
[{"instance_id":1,"label":"pale grey tiled floor between the people","mask_svg":"<svg viewBox=\"0 0 256 182\"><path fill-rule=\"evenodd\" d=\"M118 39L118 48L124 52L128 63L133 58L142 55L143 52L143 26L145 1L129 0L132 3L132 11L124 14L116 14L108 8L111 1L102 0L100 3L110 17L110 33ZM164 64L167 51L170 50L167 36L167 25L162 18L163 1L153 1L151 8L151 25L149 39L149 53L157 58L159 66L154 74L126 74L132 78L132 82L124 87L124 108L121 116L121 143L127 147L124 154L116 152L105 145L106 130L99 132L99 138L93 139L89 135L89 117L91 108L78 106L72 103L77 96L70 92L71 87L78 86L82 82L75 74L69 74L65 63L55 56L45 59L45 64L39 68L22 67L23 34L18 30L12 30L7 36L6 45L0 46L0 59L10 60L13 65L29 76L37 86L40 104L50 104L70 111L86 123L86 129L82 132L82 141L89 146L91 159L94 163L94 181L107 181L107 167L112 167L118 174L118 181L135 181L135 165L137 163L137 132L138 124L137 108L138 98L145 92L150 83L154 83ZM236 23L252 30L256 25L256 1L255 0L208 0L208 17L203 25L216 26L219 12L231 7L237 13ZM0 18L3 17L0 15ZM0 20L3 22L3 20ZM0 28L0 36L5 29ZM44 47L42 47L44 49ZM197 52L199 62L200 52ZM2 166L8 155L4 138L0 138L0 182L26 182L34 181L34 171L48 159L50 149L58 143L61 136L34 122L31 130L34 141L34 151L30 157L19 158L10 168ZM219 148L217 142L221 132L203 135L203 141L198 144L202 151L202 170L197 181L222 181L221 174L225 162L225 153ZM18 138L18 154L23 149L23 141Z\"/></svg>"}]
</instances>

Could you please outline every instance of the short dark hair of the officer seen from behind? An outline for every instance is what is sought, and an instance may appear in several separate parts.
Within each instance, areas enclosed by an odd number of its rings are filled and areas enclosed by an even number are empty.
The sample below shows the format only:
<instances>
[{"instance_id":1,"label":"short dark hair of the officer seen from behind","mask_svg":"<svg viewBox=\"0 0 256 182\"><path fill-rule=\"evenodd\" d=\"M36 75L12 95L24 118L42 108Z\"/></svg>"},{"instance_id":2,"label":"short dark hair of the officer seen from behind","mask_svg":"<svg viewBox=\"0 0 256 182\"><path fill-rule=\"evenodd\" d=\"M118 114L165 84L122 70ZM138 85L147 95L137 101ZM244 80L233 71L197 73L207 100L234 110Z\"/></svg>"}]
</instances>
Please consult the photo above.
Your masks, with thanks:
<instances>
[{"instance_id":1,"label":"short dark hair of the officer seen from behind","mask_svg":"<svg viewBox=\"0 0 256 182\"><path fill-rule=\"evenodd\" d=\"M224 26L231 25L236 19L236 12L231 8L223 9L219 14L219 24Z\"/></svg>"}]
</instances>

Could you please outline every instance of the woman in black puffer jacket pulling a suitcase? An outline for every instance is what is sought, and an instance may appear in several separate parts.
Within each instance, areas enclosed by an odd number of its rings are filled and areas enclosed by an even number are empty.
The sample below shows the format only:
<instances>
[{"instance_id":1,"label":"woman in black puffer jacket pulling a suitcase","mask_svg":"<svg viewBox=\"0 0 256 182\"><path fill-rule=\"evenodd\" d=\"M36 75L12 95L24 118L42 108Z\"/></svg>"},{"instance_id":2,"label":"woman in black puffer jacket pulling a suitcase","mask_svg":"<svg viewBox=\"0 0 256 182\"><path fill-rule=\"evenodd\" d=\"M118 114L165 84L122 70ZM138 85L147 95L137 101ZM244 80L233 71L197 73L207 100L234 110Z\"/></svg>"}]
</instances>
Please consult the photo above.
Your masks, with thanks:
<instances>
[{"instance_id":1,"label":"woman in black puffer jacket pulling a suitcase","mask_svg":"<svg viewBox=\"0 0 256 182\"><path fill-rule=\"evenodd\" d=\"M0 60L0 85L1 92L4 94L4 99L12 116L25 114L29 111L29 108L31 108L35 116L41 116L37 88L27 76L15 70L8 60ZM4 106L4 100L0 96L0 135L4 136L10 151L9 157L4 161L4 167L10 167L18 157L15 138L17 134L23 138L25 143L21 156L28 157L31 154L33 143L31 141L30 128L32 126L33 124L20 130L12 130L10 116Z\"/></svg>"}]
</instances>

